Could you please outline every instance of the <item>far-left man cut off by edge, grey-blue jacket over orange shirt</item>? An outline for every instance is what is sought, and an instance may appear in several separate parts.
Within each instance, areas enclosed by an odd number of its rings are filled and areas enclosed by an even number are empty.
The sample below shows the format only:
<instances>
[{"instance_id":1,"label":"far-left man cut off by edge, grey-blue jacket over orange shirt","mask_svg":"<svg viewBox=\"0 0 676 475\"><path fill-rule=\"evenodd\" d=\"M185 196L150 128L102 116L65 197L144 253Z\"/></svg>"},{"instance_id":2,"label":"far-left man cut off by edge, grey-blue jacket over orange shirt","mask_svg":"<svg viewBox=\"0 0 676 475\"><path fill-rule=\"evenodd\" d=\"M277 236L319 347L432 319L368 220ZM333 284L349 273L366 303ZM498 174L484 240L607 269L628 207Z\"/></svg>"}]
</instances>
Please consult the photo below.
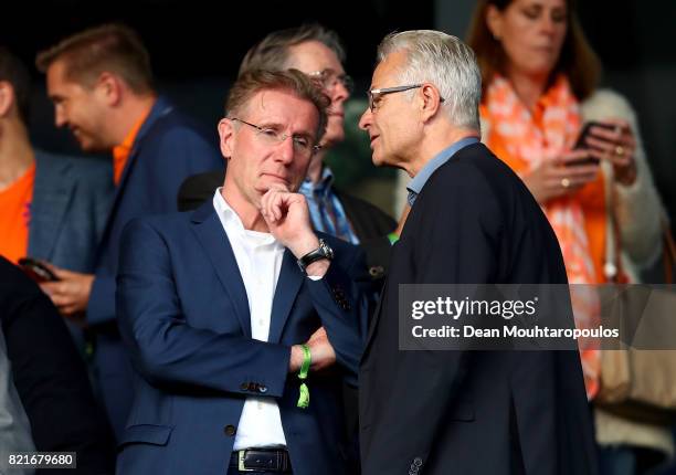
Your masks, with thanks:
<instances>
[{"instance_id":1,"label":"far-left man cut off by edge, grey-blue jacket over orange shirt","mask_svg":"<svg viewBox=\"0 0 676 475\"><path fill-rule=\"evenodd\" d=\"M93 272L114 192L110 165L33 147L31 89L25 65L0 46L0 255L14 264L29 256ZM66 324L85 353L83 329Z\"/></svg>"}]
</instances>

